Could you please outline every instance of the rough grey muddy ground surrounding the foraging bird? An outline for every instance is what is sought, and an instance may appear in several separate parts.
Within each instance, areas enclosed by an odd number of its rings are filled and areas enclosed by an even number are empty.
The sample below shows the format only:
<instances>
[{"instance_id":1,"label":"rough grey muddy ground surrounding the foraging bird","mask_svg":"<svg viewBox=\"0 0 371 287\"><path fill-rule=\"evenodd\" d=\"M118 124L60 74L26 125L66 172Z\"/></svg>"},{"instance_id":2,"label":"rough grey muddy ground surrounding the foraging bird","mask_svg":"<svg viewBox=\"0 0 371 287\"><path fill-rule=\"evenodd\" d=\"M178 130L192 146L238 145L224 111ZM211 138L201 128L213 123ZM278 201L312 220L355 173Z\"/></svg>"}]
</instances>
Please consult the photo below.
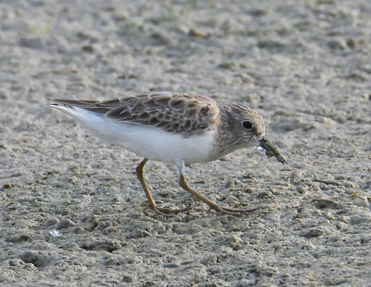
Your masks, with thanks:
<instances>
[{"instance_id":1,"label":"rough grey muddy ground surrounding the foraging bird","mask_svg":"<svg viewBox=\"0 0 371 287\"><path fill-rule=\"evenodd\" d=\"M0 286L371 286L371 4L0 1ZM47 97L205 94L259 112L258 149L187 168L141 160ZM58 230L60 236L49 231Z\"/></svg>"}]
</instances>

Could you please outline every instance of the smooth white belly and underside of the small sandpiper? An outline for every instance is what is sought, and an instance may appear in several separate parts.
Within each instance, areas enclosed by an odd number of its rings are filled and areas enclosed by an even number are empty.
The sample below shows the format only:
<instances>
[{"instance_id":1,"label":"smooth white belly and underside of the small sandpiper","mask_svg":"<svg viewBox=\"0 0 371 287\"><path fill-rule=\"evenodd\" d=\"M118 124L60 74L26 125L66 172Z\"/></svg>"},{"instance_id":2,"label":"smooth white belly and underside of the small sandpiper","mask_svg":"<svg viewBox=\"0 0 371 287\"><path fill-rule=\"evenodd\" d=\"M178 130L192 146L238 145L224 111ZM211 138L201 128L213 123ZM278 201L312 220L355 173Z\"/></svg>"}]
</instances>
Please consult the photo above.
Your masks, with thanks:
<instances>
[{"instance_id":1,"label":"smooth white belly and underside of the small sandpiper","mask_svg":"<svg viewBox=\"0 0 371 287\"><path fill-rule=\"evenodd\" d=\"M82 122L94 135L108 144L119 145L140 157L161 162L185 164L213 160L214 131L200 135L182 136L180 133L165 132L151 126L117 122L97 116L94 113L75 108L61 109Z\"/></svg>"}]
</instances>

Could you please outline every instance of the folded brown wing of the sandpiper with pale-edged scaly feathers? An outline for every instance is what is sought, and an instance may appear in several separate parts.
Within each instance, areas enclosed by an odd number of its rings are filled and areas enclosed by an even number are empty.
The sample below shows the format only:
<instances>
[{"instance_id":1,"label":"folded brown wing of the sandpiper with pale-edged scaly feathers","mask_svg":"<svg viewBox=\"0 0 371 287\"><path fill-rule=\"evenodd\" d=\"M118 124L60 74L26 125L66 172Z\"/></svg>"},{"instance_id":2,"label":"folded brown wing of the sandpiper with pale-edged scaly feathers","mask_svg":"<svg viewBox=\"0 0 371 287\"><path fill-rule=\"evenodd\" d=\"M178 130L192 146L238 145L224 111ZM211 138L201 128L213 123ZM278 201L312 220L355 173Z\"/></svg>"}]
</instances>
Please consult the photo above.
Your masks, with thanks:
<instances>
[{"instance_id":1,"label":"folded brown wing of the sandpiper with pale-edged scaly feathers","mask_svg":"<svg viewBox=\"0 0 371 287\"><path fill-rule=\"evenodd\" d=\"M168 132L192 133L211 128L220 117L214 100L196 94L161 92L108 101L50 100L119 122L154 126Z\"/></svg>"}]
</instances>

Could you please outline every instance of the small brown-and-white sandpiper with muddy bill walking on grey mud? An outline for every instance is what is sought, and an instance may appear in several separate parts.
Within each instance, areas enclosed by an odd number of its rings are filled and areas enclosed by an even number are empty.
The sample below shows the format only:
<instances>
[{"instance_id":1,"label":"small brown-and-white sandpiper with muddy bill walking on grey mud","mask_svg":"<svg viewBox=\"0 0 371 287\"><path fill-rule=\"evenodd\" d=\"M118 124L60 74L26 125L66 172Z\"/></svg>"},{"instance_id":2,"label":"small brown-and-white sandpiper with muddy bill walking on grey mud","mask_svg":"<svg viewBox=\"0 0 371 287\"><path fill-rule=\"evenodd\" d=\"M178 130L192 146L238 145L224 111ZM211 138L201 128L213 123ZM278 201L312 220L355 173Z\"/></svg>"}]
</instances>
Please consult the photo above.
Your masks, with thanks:
<instances>
[{"instance_id":1,"label":"small brown-and-white sandpiper with muddy bill walking on grey mud","mask_svg":"<svg viewBox=\"0 0 371 287\"><path fill-rule=\"evenodd\" d=\"M144 159L136 174L155 212L162 215L187 211L158 207L144 180L148 159L177 165L180 186L224 214L252 210L223 207L191 188L185 165L220 159L230 152L260 145L268 157L286 160L265 137L264 121L243 104L219 104L198 94L159 92L106 101L48 99L49 104L83 123L104 142L119 145ZM255 209L254 209L255 210Z\"/></svg>"}]
</instances>

